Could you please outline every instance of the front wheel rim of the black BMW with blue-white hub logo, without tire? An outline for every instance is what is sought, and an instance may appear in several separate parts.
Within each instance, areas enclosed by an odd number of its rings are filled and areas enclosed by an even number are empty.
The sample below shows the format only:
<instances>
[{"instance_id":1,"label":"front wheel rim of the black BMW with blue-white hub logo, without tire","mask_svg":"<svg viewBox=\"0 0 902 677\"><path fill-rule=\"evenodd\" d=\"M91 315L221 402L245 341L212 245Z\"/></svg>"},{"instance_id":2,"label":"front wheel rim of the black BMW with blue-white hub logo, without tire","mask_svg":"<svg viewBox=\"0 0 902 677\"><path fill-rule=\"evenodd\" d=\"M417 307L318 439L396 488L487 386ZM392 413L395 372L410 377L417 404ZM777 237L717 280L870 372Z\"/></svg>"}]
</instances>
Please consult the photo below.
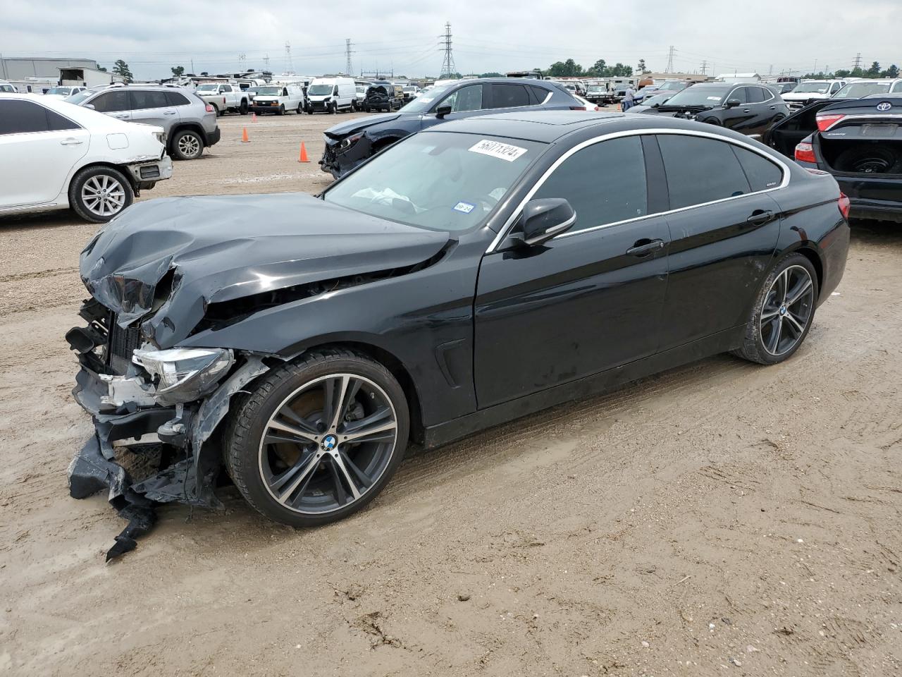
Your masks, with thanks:
<instances>
[{"instance_id":1,"label":"front wheel rim of the black BMW with blue-white hub logo, without tire","mask_svg":"<svg viewBox=\"0 0 902 677\"><path fill-rule=\"evenodd\" d=\"M280 505L322 515L366 496L388 467L398 419L382 387L334 374L300 386L263 428L260 477Z\"/></svg>"}]
</instances>

